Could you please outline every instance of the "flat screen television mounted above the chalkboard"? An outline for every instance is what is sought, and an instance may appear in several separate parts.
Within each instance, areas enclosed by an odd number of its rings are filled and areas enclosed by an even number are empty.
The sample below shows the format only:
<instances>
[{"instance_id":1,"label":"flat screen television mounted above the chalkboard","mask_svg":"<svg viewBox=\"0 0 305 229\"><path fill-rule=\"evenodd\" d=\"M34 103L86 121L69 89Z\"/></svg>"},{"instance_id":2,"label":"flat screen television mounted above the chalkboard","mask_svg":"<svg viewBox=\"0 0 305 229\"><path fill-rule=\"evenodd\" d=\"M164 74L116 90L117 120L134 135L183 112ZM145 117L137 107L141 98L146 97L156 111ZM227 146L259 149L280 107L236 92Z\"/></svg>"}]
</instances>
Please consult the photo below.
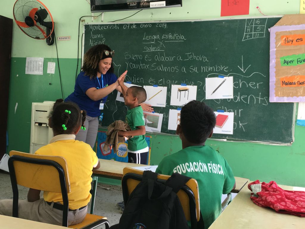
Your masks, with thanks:
<instances>
[{"instance_id":1,"label":"flat screen television mounted above the chalkboard","mask_svg":"<svg viewBox=\"0 0 305 229\"><path fill-rule=\"evenodd\" d=\"M182 0L90 0L91 12L182 6Z\"/></svg>"}]
</instances>

